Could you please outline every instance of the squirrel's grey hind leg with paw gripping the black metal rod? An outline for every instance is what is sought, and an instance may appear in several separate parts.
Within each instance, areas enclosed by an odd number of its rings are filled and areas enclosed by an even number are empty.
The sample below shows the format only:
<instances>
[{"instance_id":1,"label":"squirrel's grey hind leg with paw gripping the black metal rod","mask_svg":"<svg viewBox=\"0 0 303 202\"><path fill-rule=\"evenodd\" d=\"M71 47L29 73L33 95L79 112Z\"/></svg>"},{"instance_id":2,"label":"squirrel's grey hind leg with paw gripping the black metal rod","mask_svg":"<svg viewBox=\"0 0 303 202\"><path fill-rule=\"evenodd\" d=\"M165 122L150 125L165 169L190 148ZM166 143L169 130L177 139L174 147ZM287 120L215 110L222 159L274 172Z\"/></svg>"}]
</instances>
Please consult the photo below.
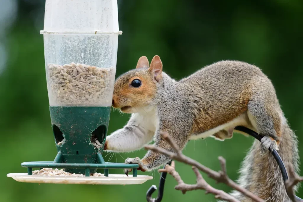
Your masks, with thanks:
<instances>
[{"instance_id":1,"label":"squirrel's grey hind leg with paw gripping the black metal rod","mask_svg":"<svg viewBox=\"0 0 303 202\"><path fill-rule=\"evenodd\" d=\"M261 140L261 153L264 154L268 149L278 150L281 119L274 106L265 104L264 99L251 99L248 102L248 118L258 133L264 136Z\"/></svg>"}]
</instances>

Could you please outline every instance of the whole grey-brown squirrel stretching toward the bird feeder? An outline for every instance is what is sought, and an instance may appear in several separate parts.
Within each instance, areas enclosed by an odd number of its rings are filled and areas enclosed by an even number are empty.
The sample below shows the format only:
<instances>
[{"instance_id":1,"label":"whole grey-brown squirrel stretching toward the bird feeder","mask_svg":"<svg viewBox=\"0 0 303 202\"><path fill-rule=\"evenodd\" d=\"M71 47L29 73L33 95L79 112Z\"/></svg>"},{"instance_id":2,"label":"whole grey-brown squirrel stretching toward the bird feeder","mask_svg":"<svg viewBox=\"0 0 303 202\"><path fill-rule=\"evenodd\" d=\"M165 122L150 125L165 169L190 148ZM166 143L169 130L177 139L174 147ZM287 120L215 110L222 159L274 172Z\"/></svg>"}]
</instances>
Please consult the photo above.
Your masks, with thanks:
<instances>
[{"instance_id":1,"label":"whole grey-brown squirrel stretching toward the bird feeder","mask_svg":"<svg viewBox=\"0 0 303 202\"><path fill-rule=\"evenodd\" d=\"M154 140L155 146L174 152L161 131L168 132L182 150L192 139L223 141L233 132L244 134L234 128L245 126L263 138L255 140L248 151L238 183L266 202L290 201L269 150L275 148L286 167L291 164L298 173L298 141L271 80L261 69L241 61L219 61L176 81L162 66L158 55L150 65L142 56L135 69L116 79L112 107L132 115L123 128L107 137L105 151L135 151ZM125 163L151 171L169 161L165 155L148 151L143 159L127 158ZM125 169L125 174L130 171ZM231 194L251 201L237 191Z\"/></svg>"}]
</instances>

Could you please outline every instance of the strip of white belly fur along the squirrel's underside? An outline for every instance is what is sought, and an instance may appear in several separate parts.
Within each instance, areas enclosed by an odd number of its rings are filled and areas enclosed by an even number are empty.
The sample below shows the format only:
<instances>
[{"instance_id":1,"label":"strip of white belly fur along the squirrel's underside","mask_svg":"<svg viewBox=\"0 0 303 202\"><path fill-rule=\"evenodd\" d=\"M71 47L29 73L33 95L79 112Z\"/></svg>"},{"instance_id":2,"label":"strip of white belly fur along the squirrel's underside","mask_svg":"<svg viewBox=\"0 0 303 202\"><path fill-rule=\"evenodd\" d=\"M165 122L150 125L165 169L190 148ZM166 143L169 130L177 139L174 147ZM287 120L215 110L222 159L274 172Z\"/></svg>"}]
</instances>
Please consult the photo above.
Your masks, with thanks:
<instances>
[{"instance_id":1,"label":"strip of white belly fur along the squirrel's underside","mask_svg":"<svg viewBox=\"0 0 303 202\"><path fill-rule=\"evenodd\" d=\"M249 127L250 129L254 130L254 127L251 126L251 123L249 121L247 112L244 112L243 114L239 115L237 118L233 119L232 121L230 121L226 124L219 125L209 131L205 131L204 133L201 133L198 135L194 135L194 134L191 135L191 140L206 138L206 137L209 137L209 136L217 133L218 131L221 131L221 130L228 131L229 128L231 128L231 127L234 128L239 125L246 126L246 127ZM254 131L256 131L256 130L254 130Z\"/></svg>"}]
</instances>

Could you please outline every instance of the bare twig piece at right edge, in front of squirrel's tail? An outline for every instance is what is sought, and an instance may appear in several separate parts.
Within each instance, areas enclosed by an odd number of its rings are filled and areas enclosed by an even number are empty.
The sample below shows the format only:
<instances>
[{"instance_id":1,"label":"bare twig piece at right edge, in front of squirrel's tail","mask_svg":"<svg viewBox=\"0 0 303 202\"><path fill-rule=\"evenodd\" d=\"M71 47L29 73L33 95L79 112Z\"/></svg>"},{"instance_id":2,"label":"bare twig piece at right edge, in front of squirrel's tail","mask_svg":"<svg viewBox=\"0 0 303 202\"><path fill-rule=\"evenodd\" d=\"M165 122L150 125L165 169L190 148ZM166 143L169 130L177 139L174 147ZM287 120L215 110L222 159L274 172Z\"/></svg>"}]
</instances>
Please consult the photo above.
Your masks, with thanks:
<instances>
[{"instance_id":1,"label":"bare twig piece at right edge, in front of squirrel's tail","mask_svg":"<svg viewBox=\"0 0 303 202\"><path fill-rule=\"evenodd\" d=\"M303 181L303 177L298 177L298 175L294 171L294 168L291 165L288 166L288 172L288 180L285 181L287 195L293 202L302 202L303 200L296 198L294 193L294 187L296 184Z\"/></svg>"}]
</instances>

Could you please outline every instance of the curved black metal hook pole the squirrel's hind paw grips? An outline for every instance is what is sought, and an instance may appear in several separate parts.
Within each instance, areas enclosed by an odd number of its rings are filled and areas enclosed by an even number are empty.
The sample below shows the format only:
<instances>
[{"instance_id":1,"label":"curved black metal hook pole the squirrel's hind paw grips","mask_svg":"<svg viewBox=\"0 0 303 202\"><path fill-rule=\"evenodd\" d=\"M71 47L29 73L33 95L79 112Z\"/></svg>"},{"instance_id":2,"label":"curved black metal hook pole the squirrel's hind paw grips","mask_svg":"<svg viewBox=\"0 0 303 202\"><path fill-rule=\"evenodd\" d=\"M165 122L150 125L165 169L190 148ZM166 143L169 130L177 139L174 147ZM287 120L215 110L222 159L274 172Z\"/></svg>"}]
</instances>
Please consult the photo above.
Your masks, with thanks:
<instances>
[{"instance_id":1,"label":"curved black metal hook pole the squirrel's hind paw grips","mask_svg":"<svg viewBox=\"0 0 303 202\"><path fill-rule=\"evenodd\" d=\"M235 127L235 130L237 131L242 131L246 134L249 134L251 135L252 137L255 137L258 141L261 141L262 137L256 133L255 131L247 128L247 127L244 127L244 126L237 126ZM280 155L278 154L278 152L274 149L271 151L271 154L274 156L275 160L277 161L278 163L278 166L280 168L280 171L281 171L281 174L282 174L282 177L283 177L283 181L285 182L286 180L288 180L288 174L287 174L287 171L286 171L286 168L285 168L285 165L280 157ZM171 164L171 161L167 164ZM164 166L165 167L165 166ZM151 195L154 193L155 190L157 190L157 187L156 185L152 185L147 193L146 193L146 200L148 202L160 202L163 198L163 192L164 192L164 183L165 183L165 179L166 179L166 175L167 173L162 173L161 174L161 178L160 178L160 183L159 183L159 191L158 191L158 197L157 198L152 198ZM301 198L295 196L296 199L298 201L303 201Z\"/></svg>"}]
</instances>

